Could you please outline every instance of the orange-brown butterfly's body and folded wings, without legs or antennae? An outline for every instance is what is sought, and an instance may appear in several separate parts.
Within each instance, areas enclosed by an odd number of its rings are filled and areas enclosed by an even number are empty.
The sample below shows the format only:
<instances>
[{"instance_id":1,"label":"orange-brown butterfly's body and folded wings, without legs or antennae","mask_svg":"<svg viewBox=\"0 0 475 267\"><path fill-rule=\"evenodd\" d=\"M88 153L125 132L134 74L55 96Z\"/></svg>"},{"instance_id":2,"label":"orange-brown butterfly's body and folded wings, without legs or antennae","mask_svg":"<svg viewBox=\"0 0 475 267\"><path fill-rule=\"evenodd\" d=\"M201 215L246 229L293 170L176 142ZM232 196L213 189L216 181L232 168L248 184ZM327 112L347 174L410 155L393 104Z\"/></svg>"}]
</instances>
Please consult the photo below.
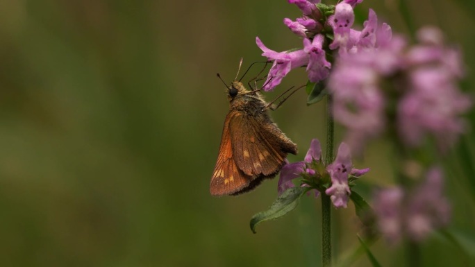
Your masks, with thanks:
<instances>
[{"instance_id":1,"label":"orange-brown butterfly's body and folded wings, without legs or antennae","mask_svg":"<svg viewBox=\"0 0 475 267\"><path fill-rule=\"evenodd\" d=\"M270 119L268 105L258 92L238 81L228 87L229 112L224 121L218 159L210 182L213 196L250 191L274 178L294 144Z\"/></svg>"}]
</instances>

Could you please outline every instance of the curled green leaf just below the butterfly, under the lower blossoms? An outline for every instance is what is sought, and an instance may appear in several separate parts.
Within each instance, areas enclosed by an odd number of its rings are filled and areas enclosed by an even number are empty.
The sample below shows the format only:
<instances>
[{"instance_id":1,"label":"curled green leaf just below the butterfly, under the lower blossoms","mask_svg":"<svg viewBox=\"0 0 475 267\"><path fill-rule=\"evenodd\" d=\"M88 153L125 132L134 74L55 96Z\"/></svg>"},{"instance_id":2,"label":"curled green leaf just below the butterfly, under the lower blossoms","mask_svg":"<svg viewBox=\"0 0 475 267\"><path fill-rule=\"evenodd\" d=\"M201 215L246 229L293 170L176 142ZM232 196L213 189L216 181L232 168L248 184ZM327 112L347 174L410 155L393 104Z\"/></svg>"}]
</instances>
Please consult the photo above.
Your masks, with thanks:
<instances>
[{"instance_id":1,"label":"curled green leaf just below the butterfly, under the lower blossoms","mask_svg":"<svg viewBox=\"0 0 475 267\"><path fill-rule=\"evenodd\" d=\"M263 221L280 218L299 205L299 199L310 190L309 187L292 187L279 196L265 212L259 212L251 218L251 230L256 234L256 226Z\"/></svg>"}]
</instances>

